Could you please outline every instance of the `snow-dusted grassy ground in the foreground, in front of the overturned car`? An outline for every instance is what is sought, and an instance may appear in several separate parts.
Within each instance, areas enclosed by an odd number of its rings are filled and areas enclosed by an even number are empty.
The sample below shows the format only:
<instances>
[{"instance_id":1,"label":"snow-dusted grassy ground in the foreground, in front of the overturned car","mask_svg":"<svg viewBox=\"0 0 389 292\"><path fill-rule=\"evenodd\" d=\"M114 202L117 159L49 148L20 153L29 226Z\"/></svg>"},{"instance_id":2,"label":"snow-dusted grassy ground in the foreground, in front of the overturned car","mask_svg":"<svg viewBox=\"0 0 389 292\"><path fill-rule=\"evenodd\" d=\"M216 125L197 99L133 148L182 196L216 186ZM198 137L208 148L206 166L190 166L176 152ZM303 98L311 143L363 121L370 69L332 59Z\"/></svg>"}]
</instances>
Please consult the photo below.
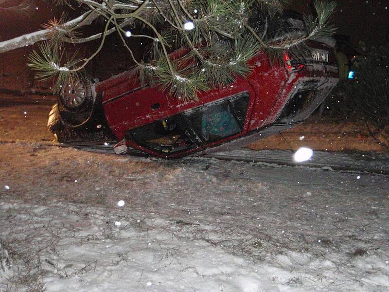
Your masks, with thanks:
<instances>
[{"instance_id":1,"label":"snow-dusted grassy ground in the foreground, in front of the overturned car","mask_svg":"<svg viewBox=\"0 0 389 292\"><path fill-rule=\"evenodd\" d=\"M388 176L0 152L0 290L389 290Z\"/></svg>"}]
</instances>

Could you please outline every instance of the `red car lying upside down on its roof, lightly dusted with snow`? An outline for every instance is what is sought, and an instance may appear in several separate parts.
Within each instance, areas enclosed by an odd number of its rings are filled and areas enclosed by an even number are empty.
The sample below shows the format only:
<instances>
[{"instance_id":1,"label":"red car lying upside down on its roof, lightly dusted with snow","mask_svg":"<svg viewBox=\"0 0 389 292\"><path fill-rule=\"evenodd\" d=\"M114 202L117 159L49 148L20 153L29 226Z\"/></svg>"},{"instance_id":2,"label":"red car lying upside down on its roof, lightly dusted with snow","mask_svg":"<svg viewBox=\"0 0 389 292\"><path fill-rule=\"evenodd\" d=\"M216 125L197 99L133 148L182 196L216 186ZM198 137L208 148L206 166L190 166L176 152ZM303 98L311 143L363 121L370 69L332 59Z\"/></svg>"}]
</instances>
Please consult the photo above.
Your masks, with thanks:
<instances>
[{"instance_id":1,"label":"red car lying upside down on its roof, lightly dusted with snow","mask_svg":"<svg viewBox=\"0 0 389 292\"><path fill-rule=\"evenodd\" d=\"M48 126L58 141L109 142L116 153L162 158L248 145L304 121L338 82L332 46L309 41L311 56L272 64L265 53L249 61L248 78L199 92L183 103L130 71L93 83L64 86Z\"/></svg>"}]
</instances>

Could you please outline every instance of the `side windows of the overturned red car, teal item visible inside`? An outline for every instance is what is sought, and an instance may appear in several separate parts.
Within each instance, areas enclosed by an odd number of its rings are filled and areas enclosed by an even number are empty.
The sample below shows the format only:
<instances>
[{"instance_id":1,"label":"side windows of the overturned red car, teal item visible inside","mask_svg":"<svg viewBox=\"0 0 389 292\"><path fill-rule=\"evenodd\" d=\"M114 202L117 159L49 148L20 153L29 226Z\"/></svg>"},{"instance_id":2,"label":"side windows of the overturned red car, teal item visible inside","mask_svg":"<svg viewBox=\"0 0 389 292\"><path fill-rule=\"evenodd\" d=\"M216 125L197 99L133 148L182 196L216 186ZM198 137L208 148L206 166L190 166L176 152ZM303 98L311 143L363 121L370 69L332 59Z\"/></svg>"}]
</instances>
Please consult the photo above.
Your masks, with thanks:
<instances>
[{"instance_id":1,"label":"side windows of the overturned red car, teal item visible inside","mask_svg":"<svg viewBox=\"0 0 389 292\"><path fill-rule=\"evenodd\" d=\"M130 140L164 154L174 154L242 132L248 91L128 131Z\"/></svg>"}]
</instances>

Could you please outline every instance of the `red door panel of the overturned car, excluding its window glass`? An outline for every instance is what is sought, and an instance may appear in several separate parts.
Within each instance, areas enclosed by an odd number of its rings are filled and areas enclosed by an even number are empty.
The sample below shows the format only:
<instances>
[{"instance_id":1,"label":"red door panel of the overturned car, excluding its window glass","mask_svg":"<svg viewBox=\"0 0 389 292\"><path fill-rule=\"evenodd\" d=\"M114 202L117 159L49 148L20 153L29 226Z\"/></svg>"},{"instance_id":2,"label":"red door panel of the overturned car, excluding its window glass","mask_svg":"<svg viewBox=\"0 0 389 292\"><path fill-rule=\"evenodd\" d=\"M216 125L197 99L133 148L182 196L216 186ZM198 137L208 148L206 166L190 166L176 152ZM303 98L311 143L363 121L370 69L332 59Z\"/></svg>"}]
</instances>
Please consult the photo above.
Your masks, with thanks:
<instances>
[{"instance_id":1,"label":"red door panel of the overturned car, excluding its window glass","mask_svg":"<svg viewBox=\"0 0 389 292\"><path fill-rule=\"evenodd\" d=\"M104 91L103 107L108 126L119 140L124 138L124 133L128 129L140 127L242 91L250 92L250 106L248 108L250 114L256 96L248 81L240 78L222 89L199 92L198 101L183 103L155 87L134 91L134 88L140 87L134 83L134 80L136 79L133 78ZM125 92L129 93L124 94ZM246 119L245 130L248 128L248 124L249 121Z\"/></svg>"}]
</instances>

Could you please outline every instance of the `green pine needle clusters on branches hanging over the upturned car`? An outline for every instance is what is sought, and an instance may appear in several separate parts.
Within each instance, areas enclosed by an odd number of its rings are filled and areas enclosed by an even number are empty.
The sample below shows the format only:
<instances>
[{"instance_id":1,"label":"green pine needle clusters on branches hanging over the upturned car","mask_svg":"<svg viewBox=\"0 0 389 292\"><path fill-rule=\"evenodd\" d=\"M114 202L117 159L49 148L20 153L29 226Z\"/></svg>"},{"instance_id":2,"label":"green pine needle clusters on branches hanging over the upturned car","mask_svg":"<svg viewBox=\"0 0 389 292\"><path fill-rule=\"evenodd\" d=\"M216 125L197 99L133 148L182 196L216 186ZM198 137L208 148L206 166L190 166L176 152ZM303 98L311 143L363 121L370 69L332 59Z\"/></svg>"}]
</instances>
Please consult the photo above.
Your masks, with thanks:
<instances>
[{"instance_id":1,"label":"green pine needle clusters on branches hanging over the upturned car","mask_svg":"<svg viewBox=\"0 0 389 292\"><path fill-rule=\"evenodd\" d=\"M335 2L315 1L317 17L303 18L304 29L285 33L281 29L269 36L267 23L283 11L285 0L77 0L90 9L89 18L96 15L105 19L106 26L100 35L83 36L76 33L77 23L67 27L63 18L49 21L45 28L50 31L50 42L39 46L40 53L33 52L29 66L39 73L39 79L56 78L55 91L69 78L77 78L104 45L112 32L120 34L142 83L156 84L162 90L183 101L195 100L198 91L225 86L236 77L250 73L248 60L259 51L281 55L284 50L299 54L305 52L304 41L329 36L335 29L329 25ZM66 4L67 0L56 1ZM255 27L250 18L256 16ZM87 18L88 18L87 17ZM86 20L84 20L86 21ZM82 21L81 21L82 22ZM80 23L80 22L79 22ZM142 35L125 35L125 28L140 23ZM97 51L81 62L75 56L63 54L63 42L83 42L100 37ZM152 54L147 62L135 59L131 49L132 37L152 39ZM184 48L174 57L168 50ZM292 49L294 48L294 49ZM66 50L65 50L66 51Z\"/></svg>"}]
</instances>

